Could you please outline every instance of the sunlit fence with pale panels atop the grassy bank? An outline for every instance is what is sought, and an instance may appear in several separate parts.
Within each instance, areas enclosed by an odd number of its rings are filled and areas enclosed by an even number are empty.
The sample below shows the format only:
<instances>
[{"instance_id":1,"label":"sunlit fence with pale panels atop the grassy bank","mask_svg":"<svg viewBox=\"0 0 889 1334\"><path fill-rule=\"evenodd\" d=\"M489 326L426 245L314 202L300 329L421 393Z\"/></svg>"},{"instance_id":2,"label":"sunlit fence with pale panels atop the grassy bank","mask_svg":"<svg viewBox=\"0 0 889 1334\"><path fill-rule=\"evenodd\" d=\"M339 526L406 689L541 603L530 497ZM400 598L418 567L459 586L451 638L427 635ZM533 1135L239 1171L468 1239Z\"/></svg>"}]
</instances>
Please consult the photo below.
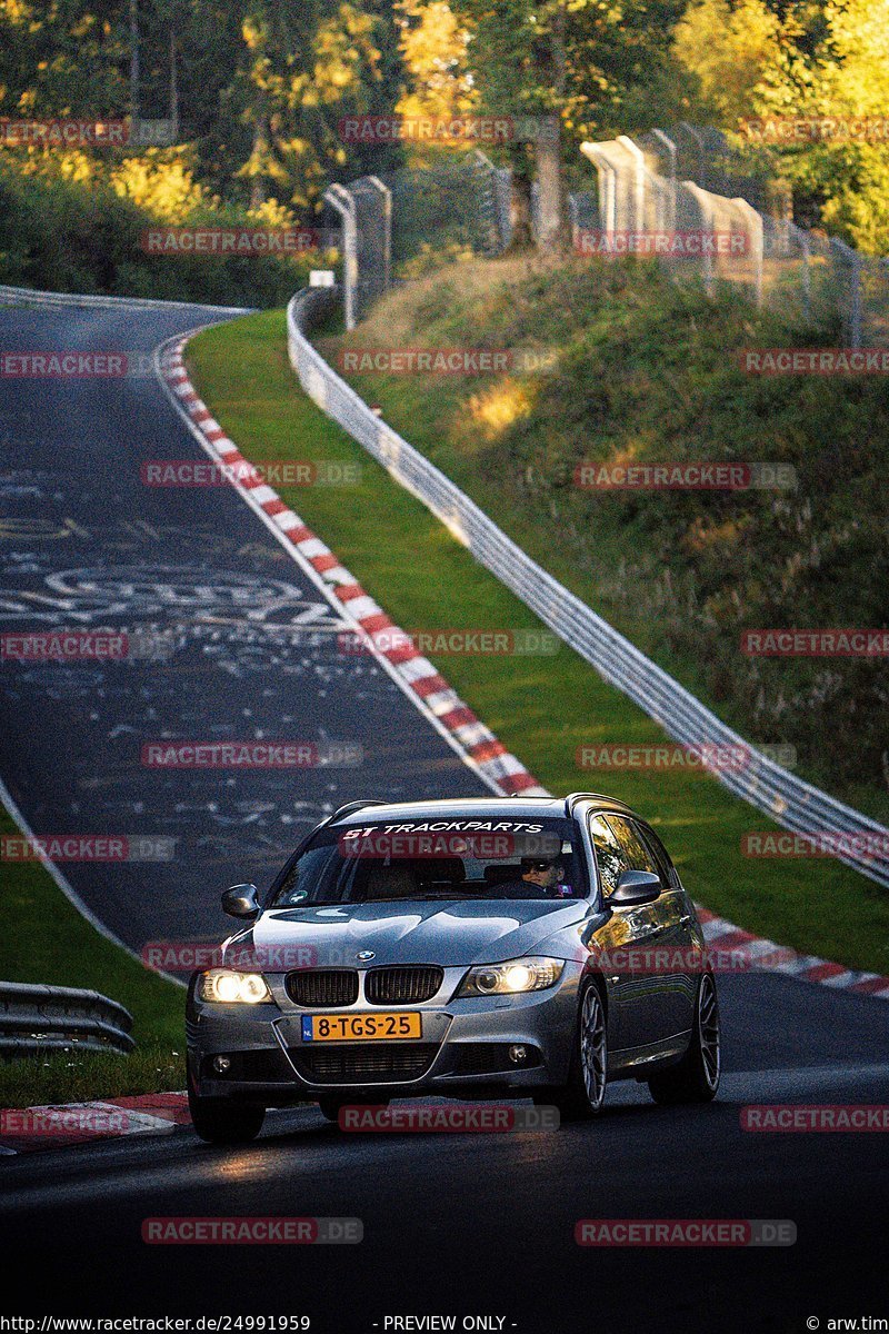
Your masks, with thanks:
<instances>
[{"instance_id":1,"label":"sunlit fence with pale panels atop the grassy bank","mask_svg":"<svg viewBox=\"0 0 889 1334\"><path fill-rule=\"evenodd\" d=\"M597 208L572 215L580 253L648 253L709 293L732 283L800 328L842 329L852 348L889 336L889 260L797 227L786 183L716 129L688 124L585 143ZM593 220L594 219L594 220Z\"/></svg>"}]
</instances>

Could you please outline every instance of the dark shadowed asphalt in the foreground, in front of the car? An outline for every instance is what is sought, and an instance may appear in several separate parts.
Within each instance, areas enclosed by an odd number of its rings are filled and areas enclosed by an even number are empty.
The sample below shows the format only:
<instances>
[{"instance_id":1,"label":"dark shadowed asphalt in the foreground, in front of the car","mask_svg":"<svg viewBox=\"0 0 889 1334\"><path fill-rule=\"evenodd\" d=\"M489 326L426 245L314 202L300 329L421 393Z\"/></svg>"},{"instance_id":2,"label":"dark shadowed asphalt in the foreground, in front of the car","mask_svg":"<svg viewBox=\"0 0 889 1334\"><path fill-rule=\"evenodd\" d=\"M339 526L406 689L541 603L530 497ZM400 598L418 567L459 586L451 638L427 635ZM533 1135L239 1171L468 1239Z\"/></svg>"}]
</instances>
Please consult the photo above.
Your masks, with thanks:
<instances>
[{"instance_id":1,"label":"dark shadowed asphalt in the foreground, in front of the car","mask_svg":"<svg viewBox=\"0 0 889 1334\"><path fill-rule=\"evenodd\" d=\"M804 1330L889 1317L878 1134L749 1134L756 1102L886 1102L889 1009L781 978L722 986L726 1075L706 1109L617 1085L554 1134L351 1135L269 1115L247 1149L189 1131L0 1165L4 1307L65 1314L505 1315L504 1329ZM360 1218L359 1246L148 1246L157 1217ZM602 1250L578 1218L793 1219L790 1249ZM36 1275L19 1258L39 1257Z\"/></svg>"}]
</instances>

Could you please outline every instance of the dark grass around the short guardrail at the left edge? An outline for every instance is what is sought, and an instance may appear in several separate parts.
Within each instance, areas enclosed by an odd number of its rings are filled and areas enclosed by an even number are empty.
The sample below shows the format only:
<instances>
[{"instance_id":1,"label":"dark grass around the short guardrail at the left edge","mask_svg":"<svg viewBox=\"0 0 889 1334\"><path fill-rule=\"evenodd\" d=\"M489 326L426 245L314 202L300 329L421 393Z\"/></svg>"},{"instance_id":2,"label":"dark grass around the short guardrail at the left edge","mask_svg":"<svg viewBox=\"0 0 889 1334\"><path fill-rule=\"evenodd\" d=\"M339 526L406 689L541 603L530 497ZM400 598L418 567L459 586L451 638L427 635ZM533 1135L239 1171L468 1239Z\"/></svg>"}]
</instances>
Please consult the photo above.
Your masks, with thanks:
<instances>
[{"instance_id":1,"label":"dark grass around the short guardrail at the left edge","mask_svg":"<svg viewBox=\"0 0 889 1334\"><path fill-rule=\"evenodd\" d=\"M0 832L17 832L0 807ZM0 1061L0 1106L83 1102L185 1087L181 987L144 968L100 935L39 862L0 862L7 930L0 938L0 978L87 987L125 1006L136 1050L72 1051Z\"/></svg>"}]
</instances>

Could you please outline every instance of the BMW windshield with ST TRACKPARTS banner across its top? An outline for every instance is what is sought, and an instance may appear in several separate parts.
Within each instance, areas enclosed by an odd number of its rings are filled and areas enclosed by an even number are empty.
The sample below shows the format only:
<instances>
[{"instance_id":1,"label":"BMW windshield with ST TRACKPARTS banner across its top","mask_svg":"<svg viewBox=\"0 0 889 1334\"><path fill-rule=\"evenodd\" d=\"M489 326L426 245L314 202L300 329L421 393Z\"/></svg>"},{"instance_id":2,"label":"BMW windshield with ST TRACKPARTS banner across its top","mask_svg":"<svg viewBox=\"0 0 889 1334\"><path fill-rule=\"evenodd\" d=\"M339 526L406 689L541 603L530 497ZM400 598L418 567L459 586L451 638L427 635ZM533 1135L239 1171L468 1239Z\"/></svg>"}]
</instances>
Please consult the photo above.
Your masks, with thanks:
<instances>
[{"instance_id":1,"label":"BMW windshield with ST TRACKPARTS banner across its top","mask_svg":"<svg viewBox=\"0 0 889 1334\"><path fill-rule=\"evenodd\" d=\"M320 830L273 907L399 899L577 899L586 878L568 819L368 822Z\"/></svg>"}]
</instances>

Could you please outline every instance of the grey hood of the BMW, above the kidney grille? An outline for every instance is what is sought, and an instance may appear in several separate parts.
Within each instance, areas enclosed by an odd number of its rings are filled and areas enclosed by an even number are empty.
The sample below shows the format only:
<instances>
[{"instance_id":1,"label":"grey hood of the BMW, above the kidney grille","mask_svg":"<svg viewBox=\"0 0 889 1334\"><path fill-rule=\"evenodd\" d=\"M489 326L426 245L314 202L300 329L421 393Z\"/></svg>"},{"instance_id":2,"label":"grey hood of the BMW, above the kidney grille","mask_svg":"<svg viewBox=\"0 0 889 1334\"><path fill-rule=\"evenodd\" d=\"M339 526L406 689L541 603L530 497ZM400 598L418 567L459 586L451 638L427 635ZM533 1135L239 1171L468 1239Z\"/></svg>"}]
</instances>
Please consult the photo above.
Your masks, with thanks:
<instances>
[{"instance_id":1,"label":"grey hood of the BMW, above the kidney grille","mask_svg":"<svg viewBox=\"0 0 889 1334\"><path fill-rule=\"evenodd\" d=\"M588 910L585 900L536 899L273 908L237 936L237 950L252 946L259 959L269 960L269 972L367 963L501 963L533 952L554 932L585 920ZM372 951L373 958L359 959L359 951Z\"/></svg>"}]
</instances>

